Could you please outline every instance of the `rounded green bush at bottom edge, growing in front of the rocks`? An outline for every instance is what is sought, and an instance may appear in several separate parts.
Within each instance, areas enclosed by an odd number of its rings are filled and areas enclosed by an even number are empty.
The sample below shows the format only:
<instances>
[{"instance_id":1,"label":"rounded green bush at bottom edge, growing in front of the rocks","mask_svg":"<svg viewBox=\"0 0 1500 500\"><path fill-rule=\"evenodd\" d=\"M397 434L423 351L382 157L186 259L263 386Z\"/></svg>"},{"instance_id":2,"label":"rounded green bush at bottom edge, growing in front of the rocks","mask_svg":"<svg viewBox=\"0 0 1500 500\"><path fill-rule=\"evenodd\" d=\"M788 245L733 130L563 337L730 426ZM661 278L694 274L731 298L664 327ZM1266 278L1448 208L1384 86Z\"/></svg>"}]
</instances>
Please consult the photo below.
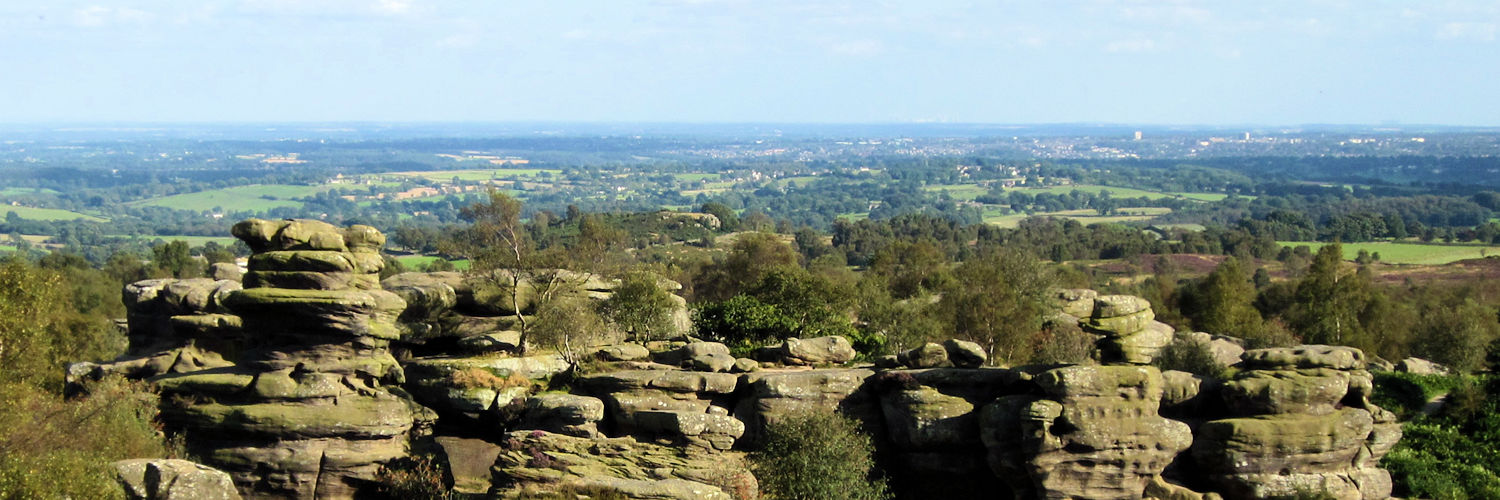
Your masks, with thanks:
<instances>
[{"instance_id":1,"label":"rounded green bush at bottom edge, growing in front of the rocks","mask_svg":"<svg viewBox=\"0 0 1500 500\"><path fill-rule=\"evenodd\" d=\"M880 500L874 447L858 423L832 413L798 413L766 426L765 449L750 456L768 498Z\"/></svg>"}]
</instances>

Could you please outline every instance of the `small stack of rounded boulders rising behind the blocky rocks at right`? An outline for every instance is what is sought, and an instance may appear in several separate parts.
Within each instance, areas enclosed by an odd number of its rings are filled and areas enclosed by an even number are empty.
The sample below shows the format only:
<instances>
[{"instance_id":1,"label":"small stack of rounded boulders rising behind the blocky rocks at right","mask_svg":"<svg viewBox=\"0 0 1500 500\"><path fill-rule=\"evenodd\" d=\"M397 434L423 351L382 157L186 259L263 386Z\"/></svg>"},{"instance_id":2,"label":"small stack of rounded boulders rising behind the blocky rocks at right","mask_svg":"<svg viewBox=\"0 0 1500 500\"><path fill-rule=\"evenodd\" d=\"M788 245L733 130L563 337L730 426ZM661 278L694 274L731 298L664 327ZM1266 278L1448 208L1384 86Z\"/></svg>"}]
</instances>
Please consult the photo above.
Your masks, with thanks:
<instances>
[{"instance_id":1,"label":"small stack of rounded boulders rising behind the blocky rocks at right","mask_svg":"<svg viewBox=\"0 0 1500 500\"><path fill-rule=\"evenodd\" d=\"M1149 365L1156 353L1172 344L1172 326L1156 321L1150 302L1136 296L1100 296L1083 329L1104 335L1100 356L1104 363Z\"/></svg>"}]
</instances>

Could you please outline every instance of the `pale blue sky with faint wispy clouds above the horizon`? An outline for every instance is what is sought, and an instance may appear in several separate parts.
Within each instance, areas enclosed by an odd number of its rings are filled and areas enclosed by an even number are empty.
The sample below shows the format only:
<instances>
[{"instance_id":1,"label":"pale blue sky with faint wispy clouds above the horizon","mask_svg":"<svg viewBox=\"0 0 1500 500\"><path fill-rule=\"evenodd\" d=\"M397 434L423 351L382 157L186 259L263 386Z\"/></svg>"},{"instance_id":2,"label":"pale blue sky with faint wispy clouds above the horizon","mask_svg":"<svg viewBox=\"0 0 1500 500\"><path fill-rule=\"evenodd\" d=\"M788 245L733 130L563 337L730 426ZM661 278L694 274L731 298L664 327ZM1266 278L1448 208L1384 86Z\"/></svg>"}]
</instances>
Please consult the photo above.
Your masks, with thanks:
<instances>
[{"instance_id":1,"label":"pale blue sky with faint wispy clouds above the horizon","mask_svg":"<svg viewBox=\"0 0 1500 500\"><path fill-rule=\"evenodd\" d=\"M1497 32L1492 0L4 0L0 123L1496 126Z\"/></svg>"}]
</instances>

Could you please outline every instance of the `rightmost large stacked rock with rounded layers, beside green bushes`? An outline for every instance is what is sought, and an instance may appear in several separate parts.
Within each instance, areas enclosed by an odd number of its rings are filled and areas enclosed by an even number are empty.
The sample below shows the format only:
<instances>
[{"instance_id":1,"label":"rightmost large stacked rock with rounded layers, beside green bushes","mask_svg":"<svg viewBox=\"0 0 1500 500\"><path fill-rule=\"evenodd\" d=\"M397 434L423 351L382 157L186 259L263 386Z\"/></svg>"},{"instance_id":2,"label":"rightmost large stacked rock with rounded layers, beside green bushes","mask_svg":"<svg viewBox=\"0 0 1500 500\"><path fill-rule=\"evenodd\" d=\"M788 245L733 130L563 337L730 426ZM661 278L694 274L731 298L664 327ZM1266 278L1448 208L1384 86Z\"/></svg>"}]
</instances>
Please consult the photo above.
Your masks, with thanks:
<instances>
[{"instance_id":1,"label":"rightmost large stacked rock with rounded layers, beside green bushes","mask_svg":"<svg viewBox=\"0 0 1500 500\"><path fill-rule=\"evenodd\" d=\"M1334 498L1386 498L1377 467L1401 438L1390 411L1370 404L1365 356L1352 347L1299 345L1245 351L1245 371L1221 393L1236 417L1203 423L1192 458L1234 498L1324 491Z\"/></svg>"}]
</instances>

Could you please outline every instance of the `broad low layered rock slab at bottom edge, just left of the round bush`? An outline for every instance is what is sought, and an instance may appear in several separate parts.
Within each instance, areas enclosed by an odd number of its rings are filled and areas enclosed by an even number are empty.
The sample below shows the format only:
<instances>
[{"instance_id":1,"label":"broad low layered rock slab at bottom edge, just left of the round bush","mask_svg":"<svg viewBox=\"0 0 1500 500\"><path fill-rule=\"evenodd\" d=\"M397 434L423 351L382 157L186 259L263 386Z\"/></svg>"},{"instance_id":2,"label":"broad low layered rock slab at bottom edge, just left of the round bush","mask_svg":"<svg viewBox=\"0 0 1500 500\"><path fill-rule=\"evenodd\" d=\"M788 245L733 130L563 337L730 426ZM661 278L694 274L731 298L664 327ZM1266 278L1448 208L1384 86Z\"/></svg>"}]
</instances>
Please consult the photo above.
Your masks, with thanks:
<instances>
[{"instance_id":1,"label":"broad low layered rock slab at bottom edge, just left of the round bush","mask_svg":"<svg viewBox=\"0 0 1500 500\"><path fill-rule=\"evenodd\" d=\"M495 459L494 497L573 492L652 500L750 500L759 485L736 452L700 452L632 438L510 432Z\"/></svg>"}]
</instances>

